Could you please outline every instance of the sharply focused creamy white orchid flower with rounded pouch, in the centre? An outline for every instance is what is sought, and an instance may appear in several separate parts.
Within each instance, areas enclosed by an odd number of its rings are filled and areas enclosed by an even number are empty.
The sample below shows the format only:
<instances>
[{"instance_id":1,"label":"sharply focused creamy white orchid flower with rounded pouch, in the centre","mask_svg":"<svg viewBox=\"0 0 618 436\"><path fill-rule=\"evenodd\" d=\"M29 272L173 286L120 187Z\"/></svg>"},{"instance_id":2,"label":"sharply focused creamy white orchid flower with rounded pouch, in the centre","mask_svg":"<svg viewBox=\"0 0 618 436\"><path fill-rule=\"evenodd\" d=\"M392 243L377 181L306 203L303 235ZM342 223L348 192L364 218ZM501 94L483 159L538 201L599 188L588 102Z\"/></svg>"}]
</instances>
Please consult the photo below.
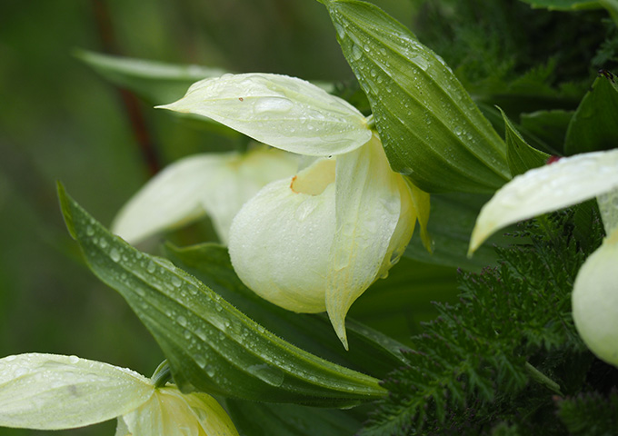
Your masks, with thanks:
<instances>
[{"instance_id":1,"label":"sharply focused creamy white orchid flower with rounded pouch, in the centre","mask_svg":"<svg viewBox=\"0 0 618 436\"><path fill-rule=\"evenodd\" d=\"M348 309L399 260L417 219L428 244L429 195L391 170L363 114L301 79L226 74L163 107L314 156L244 204L229 251L249 288L294 312L328 312L347 348Z\"/></svg>"}]
</instances>

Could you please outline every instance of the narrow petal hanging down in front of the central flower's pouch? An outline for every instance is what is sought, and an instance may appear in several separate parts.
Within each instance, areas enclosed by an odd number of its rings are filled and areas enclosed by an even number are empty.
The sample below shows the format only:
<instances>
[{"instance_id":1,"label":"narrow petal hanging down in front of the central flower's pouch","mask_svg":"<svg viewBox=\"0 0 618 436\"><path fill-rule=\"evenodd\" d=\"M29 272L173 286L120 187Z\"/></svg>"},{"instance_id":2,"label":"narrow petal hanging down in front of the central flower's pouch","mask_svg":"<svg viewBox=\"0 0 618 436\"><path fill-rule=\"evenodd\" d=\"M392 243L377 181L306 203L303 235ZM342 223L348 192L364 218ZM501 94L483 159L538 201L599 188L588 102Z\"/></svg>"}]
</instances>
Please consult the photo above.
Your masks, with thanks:
<instances>
[{"instance_id":1,"label":"narrow petal hanging down in front of the central flower's pouch","mask_svg":"<svg viewBox=\"0 0 618 436\"><path fill-rule=\"evenodd\" d=\"M376 137L337 158L336 231L329 255L326 309L345 348L345 315L377 279L399 221L400 178Z\"/></svg>"}]
</instances>

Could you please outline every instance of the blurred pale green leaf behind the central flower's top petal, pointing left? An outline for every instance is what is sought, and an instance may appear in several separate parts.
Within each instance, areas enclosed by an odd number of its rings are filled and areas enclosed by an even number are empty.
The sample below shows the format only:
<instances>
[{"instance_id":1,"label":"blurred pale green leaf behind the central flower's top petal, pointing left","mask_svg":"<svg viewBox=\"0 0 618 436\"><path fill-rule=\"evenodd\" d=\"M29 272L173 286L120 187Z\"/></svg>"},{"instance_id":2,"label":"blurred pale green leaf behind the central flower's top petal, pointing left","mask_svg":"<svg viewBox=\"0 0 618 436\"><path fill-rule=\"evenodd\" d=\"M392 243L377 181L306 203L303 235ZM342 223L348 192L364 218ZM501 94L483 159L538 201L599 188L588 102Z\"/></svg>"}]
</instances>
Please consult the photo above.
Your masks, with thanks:
<instances>
[{"instance_id":1,"label":"blurred pale green leaf behind the central flower's top petal, pointing left","mask_svg":"<svg viewBox=\"0 0 618 436\"><path fill-rule=\"evenodd\" d=\"M153 104L174 102L198 80L226 73L200 65L164 64L83 50L75 55L112 84L131 90Z\"/></svg>"}]
</instances>

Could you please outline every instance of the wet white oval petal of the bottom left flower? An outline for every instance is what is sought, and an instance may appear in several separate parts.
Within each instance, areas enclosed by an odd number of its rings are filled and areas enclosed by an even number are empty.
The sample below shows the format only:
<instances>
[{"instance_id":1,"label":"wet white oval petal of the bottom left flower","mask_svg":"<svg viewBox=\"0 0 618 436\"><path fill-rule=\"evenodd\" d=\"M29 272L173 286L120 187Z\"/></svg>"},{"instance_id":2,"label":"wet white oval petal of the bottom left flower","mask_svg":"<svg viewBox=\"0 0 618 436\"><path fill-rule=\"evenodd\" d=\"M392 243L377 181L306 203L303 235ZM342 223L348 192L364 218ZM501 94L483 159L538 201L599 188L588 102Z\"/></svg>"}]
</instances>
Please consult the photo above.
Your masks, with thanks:
<instances>
[{"instance_id":1,"label":"wet white oval petal of the bottom left flower","mask_svg":"<svg viewBox=\"0 0 618 436\"><path fill-rule=\"evenodd\" d=\"M111 420L139 407L154 387L142 375L75 356L0 359L0 427L58 430Z\"/></svg>"}]
</instances>

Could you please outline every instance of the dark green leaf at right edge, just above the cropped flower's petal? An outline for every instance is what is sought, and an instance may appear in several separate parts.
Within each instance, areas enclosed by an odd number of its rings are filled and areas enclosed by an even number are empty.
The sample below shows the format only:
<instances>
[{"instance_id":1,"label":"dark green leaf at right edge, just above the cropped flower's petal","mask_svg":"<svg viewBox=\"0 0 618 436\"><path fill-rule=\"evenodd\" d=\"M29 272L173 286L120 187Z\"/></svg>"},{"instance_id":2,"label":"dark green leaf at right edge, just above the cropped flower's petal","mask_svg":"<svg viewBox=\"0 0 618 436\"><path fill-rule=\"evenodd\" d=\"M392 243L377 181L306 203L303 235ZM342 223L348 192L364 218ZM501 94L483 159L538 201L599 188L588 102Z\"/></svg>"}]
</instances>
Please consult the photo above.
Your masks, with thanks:
<instances>
[{"instance_id":1,"label":"dark green leaf at right edge, just above the cropped flower's petal","mask_svg":"<svg viewBox=\"0 0 618 436\"><path fill-rule=\"evenodd\" d=\"M618 144L618 85L603 72L583 96L566 132L567 155L609 150Z\"/></svg>"}]
</instances>

